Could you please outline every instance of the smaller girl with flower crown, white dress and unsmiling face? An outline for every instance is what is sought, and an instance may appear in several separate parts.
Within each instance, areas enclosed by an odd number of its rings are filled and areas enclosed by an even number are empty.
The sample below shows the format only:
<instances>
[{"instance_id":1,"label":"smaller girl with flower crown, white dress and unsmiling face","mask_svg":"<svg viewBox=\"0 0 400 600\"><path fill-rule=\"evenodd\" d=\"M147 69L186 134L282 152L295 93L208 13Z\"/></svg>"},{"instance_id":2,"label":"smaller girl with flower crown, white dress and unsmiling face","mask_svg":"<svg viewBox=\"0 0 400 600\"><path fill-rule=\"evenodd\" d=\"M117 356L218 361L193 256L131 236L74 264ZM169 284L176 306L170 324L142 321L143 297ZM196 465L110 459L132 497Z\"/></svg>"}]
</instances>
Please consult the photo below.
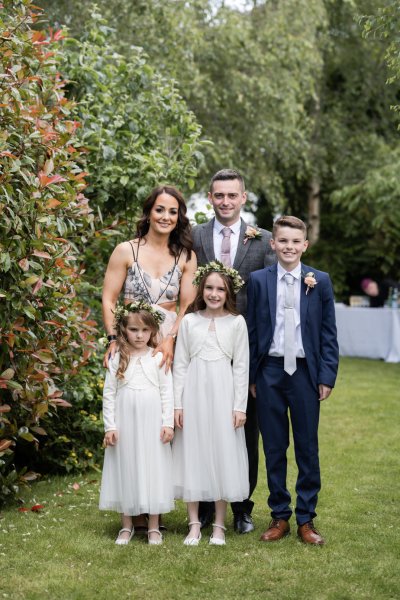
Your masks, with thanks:
<instances>
[{"instance_id":1,"label":"smaller girl with flower crown, white dress and unsmiling face","mask_svg":"<svg viewBox=\"0 0 400 600\"><path fill-rule=\"evenodd\" d=\"M104 384L106 450L99 506L121 513L118 545L132 539L132 516L143 513L149 515L149 544L161 544L159 514L174 508L172 376L159 368L162 354L152 356L162 319L143 300L115 310L119 352Z\"/></svg>"}]
</instances>

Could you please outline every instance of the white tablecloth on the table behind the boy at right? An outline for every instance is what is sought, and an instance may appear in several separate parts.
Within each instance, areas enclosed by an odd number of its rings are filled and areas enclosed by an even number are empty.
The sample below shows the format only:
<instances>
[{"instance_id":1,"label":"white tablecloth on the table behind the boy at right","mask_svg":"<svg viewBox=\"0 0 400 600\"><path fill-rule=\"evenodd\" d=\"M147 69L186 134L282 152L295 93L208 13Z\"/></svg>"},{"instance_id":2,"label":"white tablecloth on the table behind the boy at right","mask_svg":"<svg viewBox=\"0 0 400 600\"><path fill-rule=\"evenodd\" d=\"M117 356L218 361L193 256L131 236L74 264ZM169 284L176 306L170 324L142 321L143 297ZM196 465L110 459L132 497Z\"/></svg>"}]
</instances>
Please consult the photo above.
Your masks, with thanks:
<instances>
[{"instance_id":1,"label":"white tablecloth on the table behind the boy at right","mask_svg":"<svg viewBox=\"0 0 400 600\"><path fill-rule=\"evenodd\" d=\"M400 362L400 310L335 305L341 356Z\"/></svg>"}]
</instances>

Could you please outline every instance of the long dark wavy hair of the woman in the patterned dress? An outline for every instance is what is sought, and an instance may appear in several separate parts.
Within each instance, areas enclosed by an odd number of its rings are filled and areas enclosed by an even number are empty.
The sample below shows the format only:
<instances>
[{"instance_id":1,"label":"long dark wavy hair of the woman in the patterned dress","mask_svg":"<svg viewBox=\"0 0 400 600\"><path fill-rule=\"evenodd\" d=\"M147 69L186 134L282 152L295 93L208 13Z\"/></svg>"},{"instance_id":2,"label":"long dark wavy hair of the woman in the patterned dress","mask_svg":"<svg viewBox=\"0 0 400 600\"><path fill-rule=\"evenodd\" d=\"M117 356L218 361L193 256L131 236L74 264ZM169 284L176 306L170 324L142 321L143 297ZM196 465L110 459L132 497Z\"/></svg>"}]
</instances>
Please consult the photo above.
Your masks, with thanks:
<instances>
[{"instance_id":1,"label":"long dark wavy hair of the woman in the patterned dress","mask_svg":"<svg viewBox=\"0 0 400 600\"><path fill-rule=\"evenodd\" d=\"M143 204L143 213L136 225L136 237L143 238L149 231L149 217L150 212L154 206L155 201L161 194L169 194L173 196L178 202L178 221L176 227L171 231L168 240L168 248L172 256L179 256L184 248L186 250L186 260L190 260L192 253L192 236L191 236L191 225L189 219L186 216L187 208L184 197L172 185L160 185L151 192L150 196L146 198Z\"/></svg>"}]
</instances>

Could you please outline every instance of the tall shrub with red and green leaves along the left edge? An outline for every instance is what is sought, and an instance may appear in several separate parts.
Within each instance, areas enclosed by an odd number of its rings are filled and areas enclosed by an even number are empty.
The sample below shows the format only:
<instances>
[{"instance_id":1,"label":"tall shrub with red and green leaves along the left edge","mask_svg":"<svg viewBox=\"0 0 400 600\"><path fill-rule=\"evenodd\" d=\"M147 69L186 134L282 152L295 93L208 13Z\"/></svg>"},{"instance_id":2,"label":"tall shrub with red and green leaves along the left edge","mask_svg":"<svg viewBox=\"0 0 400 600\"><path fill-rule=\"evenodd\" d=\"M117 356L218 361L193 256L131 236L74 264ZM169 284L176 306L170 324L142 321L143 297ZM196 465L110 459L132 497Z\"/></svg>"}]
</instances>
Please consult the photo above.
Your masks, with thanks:
<instances>
[{"instance_id":1,"label":"tall shrub with red and green leaves along the left edge","mask_svg":"<svg viewBox=\"0 0 400 600\"><path fill-rule=\"evenodd\" d=\"M35 477L17 473L14 451L38 447L42 421L68 405L63 383L95 332L77 295L92 219L80 124L59 73L62 34L33 31L39 16L30 0L0 10L0 501Z\"/></svg>"}]
</instances>

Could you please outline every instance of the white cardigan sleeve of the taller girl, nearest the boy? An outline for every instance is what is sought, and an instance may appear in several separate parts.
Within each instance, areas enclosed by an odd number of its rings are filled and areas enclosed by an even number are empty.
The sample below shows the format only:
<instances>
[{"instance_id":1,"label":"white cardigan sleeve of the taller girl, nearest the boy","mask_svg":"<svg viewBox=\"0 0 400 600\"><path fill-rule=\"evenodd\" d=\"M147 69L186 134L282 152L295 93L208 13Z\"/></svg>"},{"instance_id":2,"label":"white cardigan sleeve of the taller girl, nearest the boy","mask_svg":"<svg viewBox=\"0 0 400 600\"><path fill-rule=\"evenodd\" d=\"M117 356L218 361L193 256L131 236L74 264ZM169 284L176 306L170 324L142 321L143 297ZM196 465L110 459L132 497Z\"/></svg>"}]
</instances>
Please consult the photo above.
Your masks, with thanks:
<instances>
[{"instance_id":1,"label":"white cardigan sleeve of the taller girl, nearest the boy","mask_svg":"<svg viewBox=\"0 0 400 600\"><path fill-rule=\"evenodd\" d=\"M242 316L238 316L235 320L232 369L235 390L233 410L246 412L249 393L249 337Z\"/></svg>"}]
</instances>

